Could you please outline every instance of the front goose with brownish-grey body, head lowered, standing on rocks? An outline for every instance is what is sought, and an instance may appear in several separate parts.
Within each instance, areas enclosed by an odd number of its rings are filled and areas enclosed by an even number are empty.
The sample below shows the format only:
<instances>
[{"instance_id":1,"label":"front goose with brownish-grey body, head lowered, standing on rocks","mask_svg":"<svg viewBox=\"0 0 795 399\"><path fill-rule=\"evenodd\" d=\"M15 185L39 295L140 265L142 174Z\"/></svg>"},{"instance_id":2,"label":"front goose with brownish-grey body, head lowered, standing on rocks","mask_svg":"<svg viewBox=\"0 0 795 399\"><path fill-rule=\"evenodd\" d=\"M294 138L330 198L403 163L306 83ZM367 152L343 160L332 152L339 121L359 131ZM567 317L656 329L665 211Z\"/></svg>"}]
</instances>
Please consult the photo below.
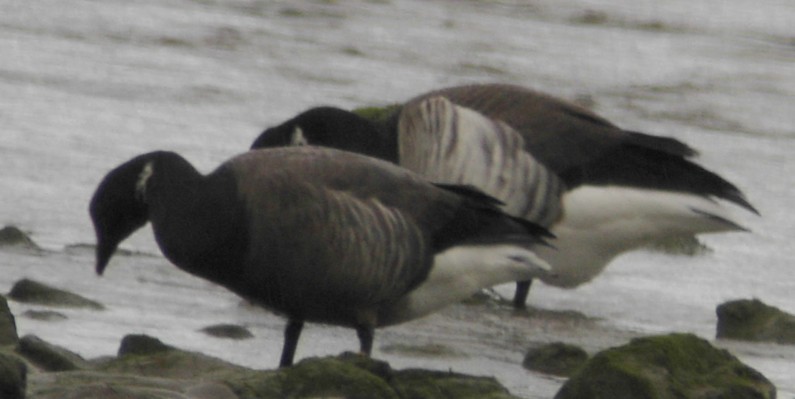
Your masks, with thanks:
<instances>
[{"instance_id":1,"label":"front goose with brownish-grey body, head lowered, standing on rocks","mask_svg":"<svg viewBox=\"0 0 795 399\"><path fill-rule=\"evenodd\" d=\"M532 249L549 233L498 205L373 158L285 148L206 176L172 152L140 155L107 174L89 211L98 273L151 222L176 266L286 315L286 366L305 321L355 328L369 354L376 327L545 274Z\"/></svg>"}]
</instances>

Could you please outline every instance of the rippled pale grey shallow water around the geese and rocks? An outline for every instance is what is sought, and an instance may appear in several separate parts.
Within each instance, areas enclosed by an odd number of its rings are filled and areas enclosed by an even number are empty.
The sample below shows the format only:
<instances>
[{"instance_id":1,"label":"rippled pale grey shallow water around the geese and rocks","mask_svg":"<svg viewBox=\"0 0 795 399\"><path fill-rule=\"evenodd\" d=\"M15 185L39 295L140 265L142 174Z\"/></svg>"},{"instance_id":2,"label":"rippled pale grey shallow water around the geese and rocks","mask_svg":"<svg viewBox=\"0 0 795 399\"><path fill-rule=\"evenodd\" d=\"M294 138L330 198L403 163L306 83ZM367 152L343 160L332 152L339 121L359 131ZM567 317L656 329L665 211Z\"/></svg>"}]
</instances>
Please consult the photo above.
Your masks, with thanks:
<instances>
[{"instance_id":1,"label":"rippled pale grey shallow water around the geese and rocks","mask_svg":"<svg viewBox=\"0 0 795 399\"><path fill-rule=\"evenodd\" d=\"M86 207L112 167L154 149L201 170L248 147L265 126L319 104L400 101L443 85L501 81L592 104L615 123L683 139L741 187L762 217L753 233L704 238L695 257L635 252L573 291L538 284L535 317L455 306L385 329L376 357L397 367L494 375L512 392L548 398L562 383L525 371L533 344L596 351L630 337L689 331L714 337L715 306L758 297L795 312L795 4L586 1L74 1L12 0L0 13L0 224L49 251L0 250L0 291L32 277L108 306L64 310L61 322L17 318L86 357L145 332L240 364L277 362L283 321L167 264L117 257L93 274ZM158 254L147 228L126 248ZM510 295L511 287L499 292ZM12 303L20 315L30 306ZM35 308L35 307L34 307ZM196 330L249 326L230 342ZM395 353L441 344L454 355ZM795 349L717 342L795 397ZM299 357L355 348L352 332L311 326Z\"/></svg>"}]
</instances>

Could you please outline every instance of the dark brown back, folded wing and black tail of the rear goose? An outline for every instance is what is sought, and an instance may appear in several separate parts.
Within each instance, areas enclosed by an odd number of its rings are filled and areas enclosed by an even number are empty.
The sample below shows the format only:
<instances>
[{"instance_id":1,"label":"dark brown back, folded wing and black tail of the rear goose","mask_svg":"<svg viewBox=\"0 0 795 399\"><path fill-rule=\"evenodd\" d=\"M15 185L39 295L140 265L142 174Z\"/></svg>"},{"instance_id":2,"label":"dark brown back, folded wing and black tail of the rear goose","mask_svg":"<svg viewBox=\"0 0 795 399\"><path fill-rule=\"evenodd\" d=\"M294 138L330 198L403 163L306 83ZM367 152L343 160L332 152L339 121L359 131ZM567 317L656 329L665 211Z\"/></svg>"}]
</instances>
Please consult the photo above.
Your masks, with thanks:
<instances>
[{"instance_id":1,"label":"dark brown back, folded wing and black tail of the rear goose","mask_svg":"<svg viewBox=\"0 0 795 399\"><path fill-rule=\"evenodd\" d=\"M437 96L513 127L525 150L569 189L616 185L678 191L756 212L737 187L689 160L697 151L674 138L623 130L583 107L514 85L450 87L420 95L406 107Z\"/></svg>"}]
</instances>

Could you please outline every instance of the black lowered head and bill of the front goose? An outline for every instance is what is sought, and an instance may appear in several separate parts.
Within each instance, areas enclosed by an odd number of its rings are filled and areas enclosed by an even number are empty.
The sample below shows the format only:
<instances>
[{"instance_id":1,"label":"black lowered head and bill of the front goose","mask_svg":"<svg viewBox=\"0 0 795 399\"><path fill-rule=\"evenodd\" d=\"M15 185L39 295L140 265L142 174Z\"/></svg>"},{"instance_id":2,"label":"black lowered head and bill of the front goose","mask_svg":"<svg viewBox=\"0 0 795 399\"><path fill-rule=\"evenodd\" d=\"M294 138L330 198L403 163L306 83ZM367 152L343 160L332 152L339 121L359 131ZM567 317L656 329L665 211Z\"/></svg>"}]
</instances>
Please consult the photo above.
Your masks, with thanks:
<instances>
[{"instance_id":1,"label":"black lowered head and bill of the front goose","mask_svg":"<svg viewBox=\"0 0 795 399\"><path fill-rule=\"evenodd\" d=\"M97 187L89 214L97 235L97 274L124 239L148 220L146 181L153 173L154 153L140 155L108 172Z\"/></svg>"}]
</instances>

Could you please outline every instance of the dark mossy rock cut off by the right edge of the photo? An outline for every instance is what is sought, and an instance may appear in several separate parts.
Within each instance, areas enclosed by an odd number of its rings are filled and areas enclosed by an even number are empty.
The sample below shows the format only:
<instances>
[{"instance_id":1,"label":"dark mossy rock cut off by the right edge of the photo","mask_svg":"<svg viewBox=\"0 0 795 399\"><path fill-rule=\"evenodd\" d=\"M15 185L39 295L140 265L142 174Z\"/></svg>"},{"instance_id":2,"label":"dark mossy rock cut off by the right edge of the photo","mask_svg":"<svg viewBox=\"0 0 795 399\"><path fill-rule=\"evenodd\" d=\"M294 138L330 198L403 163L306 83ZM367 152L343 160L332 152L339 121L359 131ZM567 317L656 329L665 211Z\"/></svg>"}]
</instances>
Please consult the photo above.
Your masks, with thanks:
<instances>
[{"instance_id":1,"label":"dark mossy rock cut off by the right edge of the photo","mask_svg":"<svg viewBox=\"0 0 795 399\"><path fill-rule=\"evenodd\" d=\"M758 299L725 302L716 313L718 338L795 344L795 316Z\"/></svg>"}]
</instances>

